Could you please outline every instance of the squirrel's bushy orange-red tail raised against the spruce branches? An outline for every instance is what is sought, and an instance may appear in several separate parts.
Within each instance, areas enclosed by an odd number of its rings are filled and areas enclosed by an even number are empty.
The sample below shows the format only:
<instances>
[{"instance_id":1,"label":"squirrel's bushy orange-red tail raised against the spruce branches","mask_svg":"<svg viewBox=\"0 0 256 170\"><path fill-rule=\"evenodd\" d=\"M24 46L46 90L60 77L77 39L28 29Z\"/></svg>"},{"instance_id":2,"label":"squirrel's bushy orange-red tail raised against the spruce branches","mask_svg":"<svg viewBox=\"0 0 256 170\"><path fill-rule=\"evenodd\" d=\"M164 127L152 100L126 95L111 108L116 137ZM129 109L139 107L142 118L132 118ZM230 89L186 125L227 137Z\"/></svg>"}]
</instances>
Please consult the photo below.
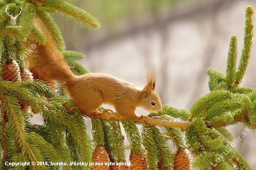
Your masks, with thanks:
<instances>
[{"instance_id":1,"label":"squirrel's bushy orange-red tail raised against the spruce branches","mask_svg":"<svg viewBox=\"0 0 256 170\"><path fill-rule=\"evenodd\" d=\"M35 26L42 31L38 22L35 22ZM28 39L25 43L27 49L30 49L30 53L26 55L29 67L47 80L68 82L74 79L75 75L65 62L61 52L56 49L50 37L46 33L45 35L47 41L44 45L38 44L32 39Z\"/></svg>"}]
</instances>

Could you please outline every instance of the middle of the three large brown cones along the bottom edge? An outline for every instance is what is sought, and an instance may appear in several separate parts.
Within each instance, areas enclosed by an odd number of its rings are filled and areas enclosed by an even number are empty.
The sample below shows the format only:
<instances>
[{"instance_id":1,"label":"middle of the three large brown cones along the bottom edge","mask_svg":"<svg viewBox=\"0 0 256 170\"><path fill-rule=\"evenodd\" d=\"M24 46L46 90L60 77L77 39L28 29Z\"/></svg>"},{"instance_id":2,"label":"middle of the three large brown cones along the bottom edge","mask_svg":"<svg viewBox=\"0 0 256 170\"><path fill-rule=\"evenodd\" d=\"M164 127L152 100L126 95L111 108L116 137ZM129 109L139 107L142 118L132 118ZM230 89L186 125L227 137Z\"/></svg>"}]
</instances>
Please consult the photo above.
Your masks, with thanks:
<instances>
[{"instance_id":1,"label":"middle of the three large brown cones along the bottom edge","mask_svg":"<svg viewBox=\"0 0 256 170\"><path fill-rule=\"evenodd\" d=\"M146 170L146 160L142 154L133 157L133 152L130 153L130 169L131 170Z\"/></svg>"}]
</instances>

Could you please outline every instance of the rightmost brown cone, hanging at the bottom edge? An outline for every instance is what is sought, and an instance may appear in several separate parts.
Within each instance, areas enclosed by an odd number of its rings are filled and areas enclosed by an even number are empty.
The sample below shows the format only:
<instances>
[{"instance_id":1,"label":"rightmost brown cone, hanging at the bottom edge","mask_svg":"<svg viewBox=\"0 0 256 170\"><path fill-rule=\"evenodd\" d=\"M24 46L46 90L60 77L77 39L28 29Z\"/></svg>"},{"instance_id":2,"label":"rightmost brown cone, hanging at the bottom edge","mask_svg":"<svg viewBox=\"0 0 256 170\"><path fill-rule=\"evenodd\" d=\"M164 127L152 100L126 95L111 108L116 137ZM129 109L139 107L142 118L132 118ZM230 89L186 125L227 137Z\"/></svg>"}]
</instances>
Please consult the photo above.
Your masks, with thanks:
<instances>
[{"instance_id":1,"label":"rightmost brown cone, hanging at the bottom edge","mask_svg":"<svg viewBox=\"0 0 256 170\"><path fill-rule=\"evenodd\" d=\"M173 164L173 170L191 170L190 157L186 150L176 151Z\"/></svg>"}]
</instances>

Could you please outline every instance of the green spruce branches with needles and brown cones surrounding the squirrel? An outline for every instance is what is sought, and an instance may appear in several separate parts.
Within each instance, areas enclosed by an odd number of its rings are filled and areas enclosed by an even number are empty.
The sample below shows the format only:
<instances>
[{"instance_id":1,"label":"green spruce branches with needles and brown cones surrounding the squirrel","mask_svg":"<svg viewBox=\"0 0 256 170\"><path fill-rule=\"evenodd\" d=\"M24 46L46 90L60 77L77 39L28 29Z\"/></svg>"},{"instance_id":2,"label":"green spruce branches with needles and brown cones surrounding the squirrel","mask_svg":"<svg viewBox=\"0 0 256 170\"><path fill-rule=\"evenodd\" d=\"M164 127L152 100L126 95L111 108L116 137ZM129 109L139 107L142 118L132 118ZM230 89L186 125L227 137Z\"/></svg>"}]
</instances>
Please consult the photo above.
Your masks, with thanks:
<instances>
[{"instance_id":1,"label":"green spruce branches with needles and brown cones surrounding the squirrel","mask_svg":"<svg viewBox=\"0 0 256 170\"><path fill-rule=\"evenodd\" d=\"M133 120L99 108L91 118L91 138L84 116L61 83L40 77L26 61L31 50L36 50L35 44L44 45L50 37L74 74L88 73L75 61L83 59L83 54L65 51L60 30L50 14L61 13L88 28L98 28L100 23L66 1L0 1L0 169L252 169L234 149L234 135L226 129L228 125L243 123L247 131L256 131L256 89L239 86L251 56L252 7L245 11L238 66L237 38L232 36L226 74L209 68L210 92L198 98L190 110L163 105L162 113L149 114L143 122L137 122L142 124L140 133ZM34 20L41 22L47 35L34 26ZM34 40L29 47L28 37ZM34 114L43 117L43 125L30 122ZM130 166L123 164L126 147L121 125L131 150ZM157 126L165 127L166 131L161 132ZM175 145L175 151L169 149L168 140Z\"/></svg>"}]
</instances>

